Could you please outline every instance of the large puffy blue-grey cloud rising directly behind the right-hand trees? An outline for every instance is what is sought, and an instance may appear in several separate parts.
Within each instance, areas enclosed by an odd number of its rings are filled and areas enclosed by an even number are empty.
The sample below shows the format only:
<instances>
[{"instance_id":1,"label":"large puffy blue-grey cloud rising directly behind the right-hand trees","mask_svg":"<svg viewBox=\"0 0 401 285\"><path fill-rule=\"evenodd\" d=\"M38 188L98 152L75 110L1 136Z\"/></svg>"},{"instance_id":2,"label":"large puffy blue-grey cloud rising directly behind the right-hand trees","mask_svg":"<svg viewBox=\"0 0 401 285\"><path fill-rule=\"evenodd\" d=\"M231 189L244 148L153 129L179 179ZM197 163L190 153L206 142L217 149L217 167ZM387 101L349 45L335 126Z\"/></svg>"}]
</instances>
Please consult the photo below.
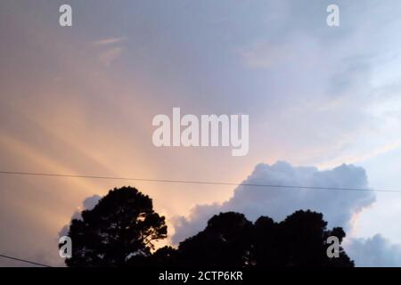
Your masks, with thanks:
<instances>
[{"instance_id":1,"label":"large puffy blue-grey cloud rising directly behind the right-hand trees","mask_svg":"<svg viewBox=\"0 0 401 285\"><path fill-rule=\"evenodd\" d=\"M272 185L302 185L310 187L368 188L362 167L342 165L331 170L319 171L316 167L292 167L286 162L274 165L258 164L243 183ZM219 212L238 211L250 220L270 216L281 221L298 209L322 212L329 226L352 228L353 216L375 201L372 191L330 191L310 189L261 188L239 186L233 197L222 204L198 205L189 217L176 217L177 243L200 231L210 216Z\"/></svg>"}]
</instances>

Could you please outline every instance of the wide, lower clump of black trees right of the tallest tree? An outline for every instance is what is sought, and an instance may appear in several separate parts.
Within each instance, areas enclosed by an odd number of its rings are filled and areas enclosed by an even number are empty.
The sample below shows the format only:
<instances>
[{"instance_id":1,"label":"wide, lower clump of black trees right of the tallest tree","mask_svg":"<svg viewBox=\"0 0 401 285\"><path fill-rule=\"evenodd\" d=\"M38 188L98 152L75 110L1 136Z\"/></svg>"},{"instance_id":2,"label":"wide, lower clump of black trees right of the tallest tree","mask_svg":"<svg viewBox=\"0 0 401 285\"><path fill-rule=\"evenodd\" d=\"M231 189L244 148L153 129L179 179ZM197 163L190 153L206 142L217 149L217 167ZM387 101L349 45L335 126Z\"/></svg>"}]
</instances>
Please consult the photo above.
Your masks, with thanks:
<instances>
[{"instance_id":1,"label":"wide, lower clump of black trees right of the tallest tree","mask_svg":"<svg viewBox=\"0 0 401 285\"><path fill-rule=\"evenodd\" d=\"M297 211L281 223L266 216L250 223L239 213L213 216L202 232L180 243L178 265L201 266L354 266L343 248L327 256L327 238L341 242L341 228L326 230L323 215Z\"/></svg>"}]
</instances>

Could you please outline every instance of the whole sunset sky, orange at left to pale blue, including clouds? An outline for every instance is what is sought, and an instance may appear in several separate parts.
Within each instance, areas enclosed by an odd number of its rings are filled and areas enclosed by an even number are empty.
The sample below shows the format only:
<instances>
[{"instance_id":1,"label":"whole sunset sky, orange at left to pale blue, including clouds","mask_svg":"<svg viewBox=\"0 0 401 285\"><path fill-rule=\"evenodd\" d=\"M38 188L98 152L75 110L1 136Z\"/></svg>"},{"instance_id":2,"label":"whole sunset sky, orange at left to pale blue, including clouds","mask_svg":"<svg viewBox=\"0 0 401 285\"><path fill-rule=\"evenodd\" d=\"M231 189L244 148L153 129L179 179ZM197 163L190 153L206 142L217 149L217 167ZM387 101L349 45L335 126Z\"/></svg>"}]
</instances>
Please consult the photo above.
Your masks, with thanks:
<instances>
[{"instance_id":1,"label":"whole sunset sky, orange at left to pale blue, including clouds","mask_svg":"<svg viewBox=\"0 0 401 285\"><path fill-rule=\"evenodd\" d=\"M2 0L0 169L401 191L400 12L397 0ZM174 107L249 115L249 153L156 148L152 118ZM0 252L62 265L71 216L127 183L0 175ZM315 208L348 230L356 265L401 266L397 192L129 184L167 216L171 244L220 210Z\"/></svg>"}]
</instances>

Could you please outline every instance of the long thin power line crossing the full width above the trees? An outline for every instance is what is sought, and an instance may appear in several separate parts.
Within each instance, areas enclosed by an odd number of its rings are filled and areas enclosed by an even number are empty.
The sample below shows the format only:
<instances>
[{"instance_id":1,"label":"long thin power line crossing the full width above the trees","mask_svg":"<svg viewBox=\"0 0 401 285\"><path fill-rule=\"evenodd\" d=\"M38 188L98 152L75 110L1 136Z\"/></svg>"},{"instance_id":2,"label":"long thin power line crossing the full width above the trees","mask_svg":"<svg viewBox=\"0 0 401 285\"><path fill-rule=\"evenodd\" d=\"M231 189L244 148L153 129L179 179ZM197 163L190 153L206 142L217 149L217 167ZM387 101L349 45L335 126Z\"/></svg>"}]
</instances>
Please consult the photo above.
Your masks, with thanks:
<instances>
[{"instance_id":1,"label":"long thin power line crossing the full width above the trees","mask_svg":"<svg viewBox=\"0 0 401 285\"><path fill-rule=\"evenodd\" d=\"M229 185L229 186L250 186L250 187L266 187L266 188L284 188L284 189L307 189L307 190L329 190L329 191L377 191L377 192L397 192L399 190L389 189L362 189L362 188L343 188L343 187L320 187L320 186L301 186L301 185L274 185L274 184L258 184L258 183L225 183L211 181L188 181L188 180L169 180L169 179L148 179L148 178L131 178L131 177L113 177L98 175L64 175L34 172L15 172L0 171L0 175L33 175L47 177L68 177L68 178L86 178L86 179L103 179L103 180L124 180L124 181L143 181L157 183L186 183L186 184L211 184L211 185Z\"/></svg>"}]
</instances>

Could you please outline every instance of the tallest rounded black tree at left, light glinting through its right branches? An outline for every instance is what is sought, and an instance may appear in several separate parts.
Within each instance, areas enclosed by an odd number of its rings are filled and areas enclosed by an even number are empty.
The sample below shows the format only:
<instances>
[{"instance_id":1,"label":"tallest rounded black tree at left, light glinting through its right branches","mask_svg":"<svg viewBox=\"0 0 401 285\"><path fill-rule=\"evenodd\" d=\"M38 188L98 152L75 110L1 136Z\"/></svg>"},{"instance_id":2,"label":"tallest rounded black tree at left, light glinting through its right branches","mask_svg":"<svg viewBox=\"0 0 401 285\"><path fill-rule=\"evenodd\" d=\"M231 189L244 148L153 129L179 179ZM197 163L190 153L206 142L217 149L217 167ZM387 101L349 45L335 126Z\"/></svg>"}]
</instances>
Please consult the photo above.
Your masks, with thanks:
<instances>
[{"instance_id":1,"label":"tallest rounded black tree at left, light glinting through its right branches","mask_svg":"<svg viewBox=\"0 0 401 285\"><path fill-rule=\"evenodd\" d=\"M151 256L153 241L167 237L165 217L151 199L132 187L115 188L92 210L73 219L68 266L125 266Z\"/></svg>"}]
</instances>

